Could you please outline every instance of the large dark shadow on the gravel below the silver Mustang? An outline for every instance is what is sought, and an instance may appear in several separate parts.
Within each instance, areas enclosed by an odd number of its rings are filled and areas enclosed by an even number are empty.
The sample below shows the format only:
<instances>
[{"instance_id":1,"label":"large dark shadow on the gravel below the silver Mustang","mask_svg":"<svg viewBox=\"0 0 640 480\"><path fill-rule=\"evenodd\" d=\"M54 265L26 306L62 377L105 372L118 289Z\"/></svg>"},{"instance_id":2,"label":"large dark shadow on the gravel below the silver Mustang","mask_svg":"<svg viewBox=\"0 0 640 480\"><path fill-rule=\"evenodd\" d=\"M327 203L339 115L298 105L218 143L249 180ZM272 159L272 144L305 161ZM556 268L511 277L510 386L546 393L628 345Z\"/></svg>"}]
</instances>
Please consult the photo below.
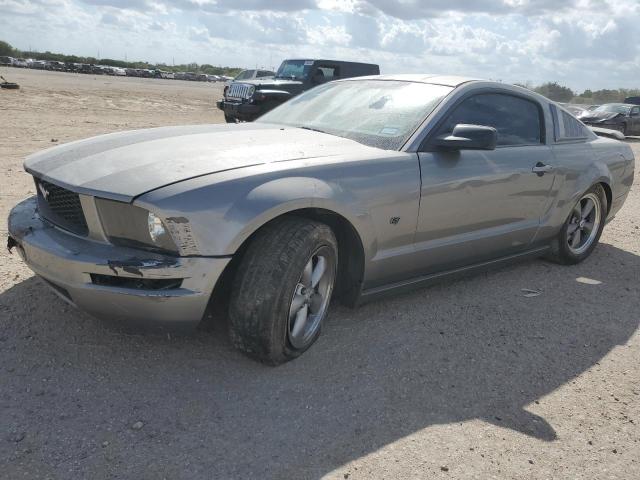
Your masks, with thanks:
<instances>
[{"instance_id":1,"label":"large dark shadow on the gravel below the silver Mustang","mask_svg":"<svg viewBox=\"0 0 640 480\"><path fill-rule=\"evenodd\" d=\"M234 351L219 327L114 330L30 278L0 294L0 401L9 440L20 439L2 443L0 467L318 478L427 427L474 419L553 442L536 403L633 335L638 271L639 256L603 244L578 266L530 261L334 306L318 343L278 368Z\"/></svg>"}]
</instances>

